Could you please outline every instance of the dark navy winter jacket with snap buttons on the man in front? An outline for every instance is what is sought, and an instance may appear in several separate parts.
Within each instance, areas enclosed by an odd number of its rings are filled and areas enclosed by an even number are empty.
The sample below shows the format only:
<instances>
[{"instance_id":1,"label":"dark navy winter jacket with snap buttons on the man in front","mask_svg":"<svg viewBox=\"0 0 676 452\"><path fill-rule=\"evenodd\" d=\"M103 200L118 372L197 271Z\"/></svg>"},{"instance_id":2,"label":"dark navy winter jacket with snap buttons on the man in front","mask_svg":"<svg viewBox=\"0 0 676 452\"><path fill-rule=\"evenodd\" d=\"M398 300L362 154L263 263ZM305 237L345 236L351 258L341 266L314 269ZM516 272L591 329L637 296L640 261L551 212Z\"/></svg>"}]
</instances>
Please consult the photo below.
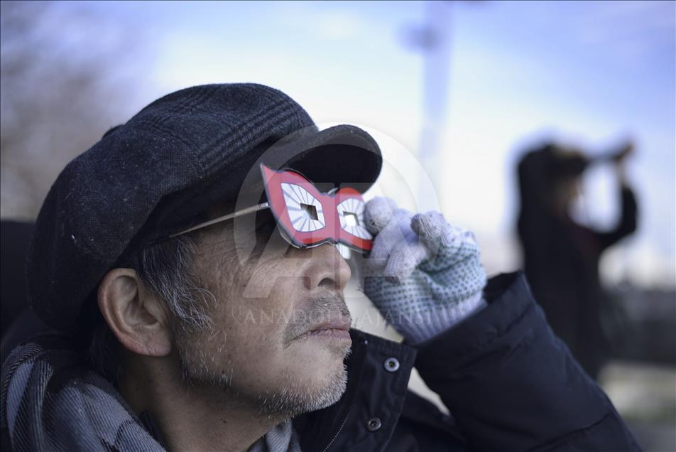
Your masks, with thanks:
<instances>
[{"instance_id":1,"label":"dark navy winter jacket with snap buttons on the man in front","mask_svg":"<svg viewBox=\"0 0 676 452\"><path fill-rule=\"evenodd\" d=\"M417 350L352 330L347 391L295 419L303 451L638 451L606 394L552 334L521 273ZM450 416L408 391L416 367Z\"/></svg>"}]
</instances>

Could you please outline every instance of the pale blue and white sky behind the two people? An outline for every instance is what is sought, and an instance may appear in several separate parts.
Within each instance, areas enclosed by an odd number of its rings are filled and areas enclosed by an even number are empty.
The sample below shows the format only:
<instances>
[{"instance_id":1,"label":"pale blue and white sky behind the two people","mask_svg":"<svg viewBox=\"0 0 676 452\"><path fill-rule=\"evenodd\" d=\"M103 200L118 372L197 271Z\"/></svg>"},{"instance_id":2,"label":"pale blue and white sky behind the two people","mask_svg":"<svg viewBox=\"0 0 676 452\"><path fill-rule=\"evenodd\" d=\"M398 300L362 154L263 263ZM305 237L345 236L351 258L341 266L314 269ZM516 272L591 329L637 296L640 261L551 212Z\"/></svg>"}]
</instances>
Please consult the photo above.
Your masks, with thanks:
<instances>
[{"instance_id":1,"label":"pale blue and white sky behind the two people","mask_svg":"<svg viewBox=\"0 0 676 452\"><path fill-rule=\"evenodd\" d=\"M261 82L316 122L351 122L416 152L423 57L402 44L420 2L115 3L86 8L138 34L149 61L138 109L207 82ZM604 274L674 284L675 3L452 4L447 129L437 183L447 217L476 230L491 271L516 262L513 166L520 144L557 136L598 152L632 136L640 231L609 254ZM64 33L67 33L65 30ZM132 108L133 107L133 108ZM131 111L130 110L130 111ZM388 150L385 149L386 156ZM592 177L593 176L593 177ZM612 178L587 181L587 215L616 215Z\"/></svg>"}]
</instances>

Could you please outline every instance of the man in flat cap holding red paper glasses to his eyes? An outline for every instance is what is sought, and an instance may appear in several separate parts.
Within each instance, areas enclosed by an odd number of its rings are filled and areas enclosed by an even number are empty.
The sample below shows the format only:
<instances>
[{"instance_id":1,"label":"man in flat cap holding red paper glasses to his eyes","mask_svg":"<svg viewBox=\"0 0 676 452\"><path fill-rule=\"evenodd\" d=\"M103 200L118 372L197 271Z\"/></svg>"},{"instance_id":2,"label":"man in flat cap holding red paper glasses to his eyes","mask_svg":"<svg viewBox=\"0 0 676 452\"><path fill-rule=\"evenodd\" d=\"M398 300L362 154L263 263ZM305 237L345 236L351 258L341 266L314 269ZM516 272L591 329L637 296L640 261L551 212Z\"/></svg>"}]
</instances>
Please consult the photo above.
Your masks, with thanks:
<instances>
[{"instance_id":1,"label":"man in flat cap holding red paper glasses to his eyes","mask_svg":"<svg viewBox=\"0 0 676 452\"><path fill-rule=\"evenodd\" d=\"M61 173L28 259L55 333L13 351L16 450L636 450L521 274L471 233L364 205L371 136L261 85L192 87ZM365 293L405 343L349 329ZM450 415L407 390L413 366Z\"/></svg>"}]
</instances>

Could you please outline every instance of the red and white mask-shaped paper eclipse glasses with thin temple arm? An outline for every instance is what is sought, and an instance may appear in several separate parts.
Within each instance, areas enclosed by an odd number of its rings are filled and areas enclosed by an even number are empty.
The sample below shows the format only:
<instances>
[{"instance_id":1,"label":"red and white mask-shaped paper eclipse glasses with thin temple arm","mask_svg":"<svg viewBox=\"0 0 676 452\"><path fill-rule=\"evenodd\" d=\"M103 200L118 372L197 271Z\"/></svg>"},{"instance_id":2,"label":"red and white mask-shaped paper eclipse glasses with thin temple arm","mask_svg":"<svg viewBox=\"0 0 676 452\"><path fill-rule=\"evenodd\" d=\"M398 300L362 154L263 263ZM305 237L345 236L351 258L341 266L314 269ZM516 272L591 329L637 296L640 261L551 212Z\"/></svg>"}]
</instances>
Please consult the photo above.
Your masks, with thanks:
<instances>
[{"instance_id":1,"label":"red and white mask-shaped paper eclipse glasses with thin temple arm","mask_svg":"<svg viewBox=\"0 0 676 452\"><path fill-rule=\"evenodd\" d=\"M373 236L364 226L364 199L354 188L321 193L312 182L293 170L275 171L261 163L267 203L254 205L190 227L170 237L217 222L269 208L284 239L297 248L342 243L369 251Z\"/></svg>"}]
</instances>

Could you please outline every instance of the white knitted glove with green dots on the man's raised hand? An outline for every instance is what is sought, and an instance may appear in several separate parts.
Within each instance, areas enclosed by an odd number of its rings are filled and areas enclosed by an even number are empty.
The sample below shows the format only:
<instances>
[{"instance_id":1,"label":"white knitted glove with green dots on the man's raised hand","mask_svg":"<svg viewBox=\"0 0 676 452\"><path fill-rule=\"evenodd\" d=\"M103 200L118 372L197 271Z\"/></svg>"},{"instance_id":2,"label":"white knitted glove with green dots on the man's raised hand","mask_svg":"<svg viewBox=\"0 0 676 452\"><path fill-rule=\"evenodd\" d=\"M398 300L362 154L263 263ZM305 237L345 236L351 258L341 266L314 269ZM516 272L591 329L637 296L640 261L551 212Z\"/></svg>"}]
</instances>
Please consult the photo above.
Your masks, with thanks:
<instances>
[{"instance_id":1,"label":"white knitted glove with green dots on the man's raised hand","mask_svg":"<svg viewBox=\"0 0 676 452\"><path fill-rule=\"evenodd\" d=\"M486 306L486 274L471 232L440 212L413 215L388 198L366 203L364 221L376 236L362 264L364 293L409 343Z\"/></svg>"}]
</instances>

